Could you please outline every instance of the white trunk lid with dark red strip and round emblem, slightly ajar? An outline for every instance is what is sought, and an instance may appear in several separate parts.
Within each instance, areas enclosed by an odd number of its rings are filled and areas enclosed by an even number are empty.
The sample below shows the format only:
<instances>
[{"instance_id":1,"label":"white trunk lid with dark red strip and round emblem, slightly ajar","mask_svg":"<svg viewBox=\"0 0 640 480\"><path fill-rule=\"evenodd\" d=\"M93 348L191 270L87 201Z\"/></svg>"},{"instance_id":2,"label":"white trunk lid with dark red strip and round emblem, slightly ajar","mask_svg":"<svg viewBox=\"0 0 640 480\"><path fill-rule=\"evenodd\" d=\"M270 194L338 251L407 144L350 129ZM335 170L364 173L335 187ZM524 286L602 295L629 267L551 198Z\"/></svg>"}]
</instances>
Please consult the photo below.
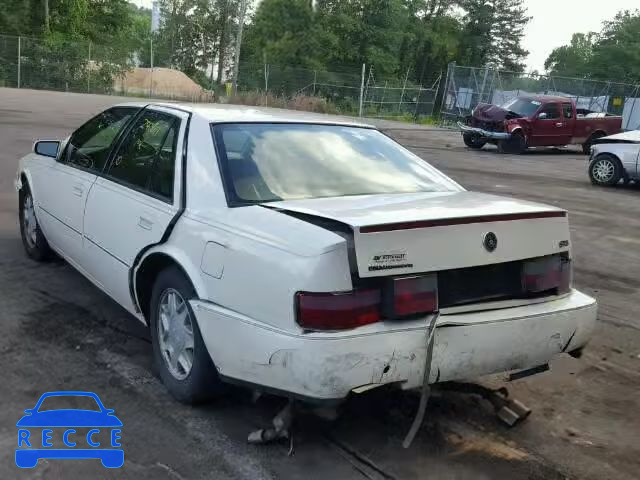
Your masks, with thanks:
<instances>
[{"instance_id":1,"label":"white trunk lid with dark red strip and round emblem, slightly ajar","mask_svg":"<svg viewBox=\"0 0 640 480\"><path fill-rule=\"evenodd\" d=\"M360 277L451 270L569 250L564 210L484 193L362 195L266 206L351 227Z\"/></svg>"}]
</instances>

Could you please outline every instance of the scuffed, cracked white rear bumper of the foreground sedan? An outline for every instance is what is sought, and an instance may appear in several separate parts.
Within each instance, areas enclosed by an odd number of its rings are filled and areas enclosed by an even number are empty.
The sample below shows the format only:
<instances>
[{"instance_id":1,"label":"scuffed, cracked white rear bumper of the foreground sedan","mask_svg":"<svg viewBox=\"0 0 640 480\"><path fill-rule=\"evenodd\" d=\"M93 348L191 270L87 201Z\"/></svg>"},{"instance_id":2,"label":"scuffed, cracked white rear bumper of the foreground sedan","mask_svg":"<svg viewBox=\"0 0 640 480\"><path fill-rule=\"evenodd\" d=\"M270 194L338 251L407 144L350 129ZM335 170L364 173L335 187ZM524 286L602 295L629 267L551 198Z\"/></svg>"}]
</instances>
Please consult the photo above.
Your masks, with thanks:
<instances>
[{"instance_id":1,"label":"scuffed, cracked white rear bumper of the foreground sedan","mask_svg":"<svg viewBox=\"0 0 640 480\"><path fill-rule=\"evenodd\" d=\"M339 401L353 390L389 383L418 388L424 378L424 319L294 334L207 302L191 304L209 353L228 380L311 401ZM584 346L596 314L595 300L576 290L532 305L443 313L429 381L470 380L547 363Z\"/></svg>"}]
</instances>

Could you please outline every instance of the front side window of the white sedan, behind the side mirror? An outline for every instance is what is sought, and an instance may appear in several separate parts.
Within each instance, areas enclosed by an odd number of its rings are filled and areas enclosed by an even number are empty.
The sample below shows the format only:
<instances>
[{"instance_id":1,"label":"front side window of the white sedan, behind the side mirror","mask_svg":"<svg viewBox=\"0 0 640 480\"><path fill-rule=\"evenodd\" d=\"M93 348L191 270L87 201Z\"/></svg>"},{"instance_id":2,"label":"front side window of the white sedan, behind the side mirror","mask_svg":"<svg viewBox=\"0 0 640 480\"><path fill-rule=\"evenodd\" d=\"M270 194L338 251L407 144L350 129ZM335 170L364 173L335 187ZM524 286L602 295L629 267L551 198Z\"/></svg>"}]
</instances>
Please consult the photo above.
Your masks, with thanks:
<instances>
[{"instance_id":1,"label":"front side window of the white sedan, behind the side mirror","mask_svg":"<svg viewBox=\"0 0 640 480\"><path fill-rule=\"evenodd\" d=\"M137 108L115 107L93 117L69 139L65 161L102 172L113 143Z\"/></svg>"}]
</instances>

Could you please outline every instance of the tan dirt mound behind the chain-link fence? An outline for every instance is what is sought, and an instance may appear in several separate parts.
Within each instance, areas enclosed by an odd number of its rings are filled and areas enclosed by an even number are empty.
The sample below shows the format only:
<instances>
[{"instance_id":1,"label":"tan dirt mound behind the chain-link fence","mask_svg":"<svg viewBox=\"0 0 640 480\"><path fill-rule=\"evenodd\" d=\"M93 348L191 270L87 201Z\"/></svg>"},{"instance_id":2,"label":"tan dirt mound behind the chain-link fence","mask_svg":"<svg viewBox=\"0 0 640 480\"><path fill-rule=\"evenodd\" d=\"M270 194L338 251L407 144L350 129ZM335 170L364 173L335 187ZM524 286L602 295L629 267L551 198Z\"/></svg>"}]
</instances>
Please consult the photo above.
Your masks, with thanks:
<instances>
[{"instance_id":1,"label":"tan dirt mound behind the chain-link fence","mask_svg":"<svg viewBox=\"0 0 640 480\"><path fill-rule=\"evenodd\" d=\"M133 68L115 80L116 93L189 100L211 101L213 93L205 90L179 70L172 68Z\"/></svg>"}]
</instances>

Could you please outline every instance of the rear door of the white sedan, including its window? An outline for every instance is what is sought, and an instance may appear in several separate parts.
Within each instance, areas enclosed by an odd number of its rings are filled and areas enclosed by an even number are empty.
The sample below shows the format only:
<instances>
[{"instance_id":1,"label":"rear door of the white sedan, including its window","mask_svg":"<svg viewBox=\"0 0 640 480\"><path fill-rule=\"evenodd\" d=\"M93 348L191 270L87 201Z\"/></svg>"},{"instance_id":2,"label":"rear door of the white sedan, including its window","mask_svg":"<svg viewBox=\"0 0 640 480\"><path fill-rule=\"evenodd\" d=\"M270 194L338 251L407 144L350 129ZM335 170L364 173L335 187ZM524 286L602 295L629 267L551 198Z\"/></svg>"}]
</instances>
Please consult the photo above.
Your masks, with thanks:
<instances>
[{"instance_id":1,"label":"rear door of the white sedan, including its window","mask_svg":"<svg viewBox=\"0 0 640 480\"><path fill-rule=\"evenodd\" d=\"M179 152L187 114L146 109L131 124L94 183L84 217L88 273L130 311L129 270L158 243L179 209Z\"/></svg>"}]
</instances>

